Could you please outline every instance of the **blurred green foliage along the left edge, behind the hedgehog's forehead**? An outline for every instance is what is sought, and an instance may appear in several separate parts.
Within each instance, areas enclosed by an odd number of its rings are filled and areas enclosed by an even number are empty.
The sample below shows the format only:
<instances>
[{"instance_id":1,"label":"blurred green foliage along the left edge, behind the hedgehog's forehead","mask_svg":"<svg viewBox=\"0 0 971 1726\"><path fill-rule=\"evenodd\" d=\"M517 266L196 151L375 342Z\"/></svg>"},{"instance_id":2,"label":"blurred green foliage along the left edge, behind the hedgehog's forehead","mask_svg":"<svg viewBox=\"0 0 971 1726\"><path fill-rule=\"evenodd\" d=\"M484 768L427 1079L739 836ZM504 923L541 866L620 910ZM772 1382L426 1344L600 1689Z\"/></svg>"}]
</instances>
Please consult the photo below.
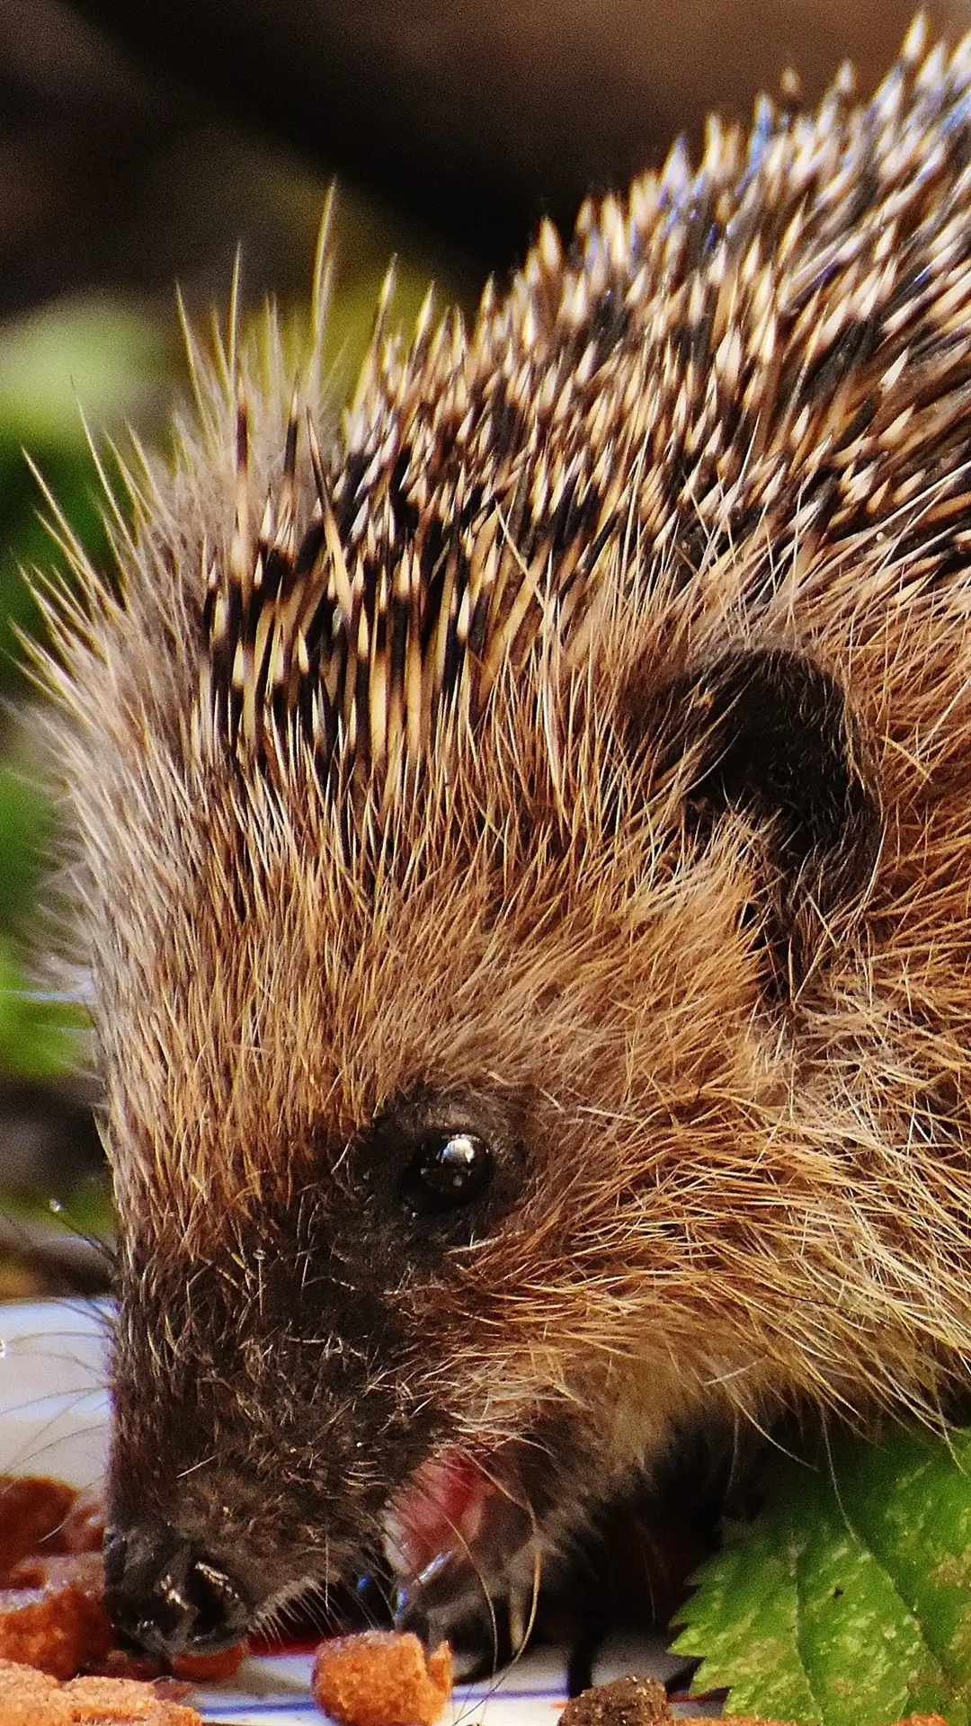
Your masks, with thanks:
<instances>
[{"instance_id":1,"label":"blurred green foliage along the left edge, behind the hedgehog's forehead","mask_svg":"<svg viewBox=\"0 0 971 1726\"><path fill-rule=\"evenodd\" d=\"M111 304L48 307L0 330L0 1080L57 1079L78 1058L81 1008L31 979L36 906L54 839L31 732L21 635L41 628L28 571L64 559L43 525L26 450L95 559L107 556L81 404L98 428L152 418L166 356L152 323ZM0 1146L0 1181L3 1150Z\"/></svg>"}]
</instances>

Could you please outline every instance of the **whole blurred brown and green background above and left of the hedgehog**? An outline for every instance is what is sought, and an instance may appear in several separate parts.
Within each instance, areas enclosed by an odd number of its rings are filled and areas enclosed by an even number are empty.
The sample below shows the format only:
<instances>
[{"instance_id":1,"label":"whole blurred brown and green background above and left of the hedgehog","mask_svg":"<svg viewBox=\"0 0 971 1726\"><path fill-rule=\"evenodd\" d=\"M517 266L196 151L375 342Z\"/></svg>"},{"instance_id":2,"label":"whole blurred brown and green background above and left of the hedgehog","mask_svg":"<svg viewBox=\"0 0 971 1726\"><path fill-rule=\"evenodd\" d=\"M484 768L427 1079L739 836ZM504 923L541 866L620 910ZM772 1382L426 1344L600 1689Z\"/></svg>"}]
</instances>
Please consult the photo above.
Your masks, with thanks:
<instances>
[{"instance_id":1,"label":"whole blurred brown and green background above and left of the hedgehog","mask_svg":"<svg viewBox=\"0 0 971 1726\"><path fill-rule=\"evenodd\" d=\"M952 40L971 0L931 10ZM435 278L472 307L541 214L658 164L703 116L743 119L786 67L860 95L911 0L5 0L0 3L0 1296L104 1286L111 1232L85 1006L38 984L55 808L16 630L50 568L24 447L104 554L79 416L166 437L175 312L306 299L339 183L330 359L344 385L390 254L406 323ZM342 383L337 385L340 390ZM38 930L41 934L38 935ZM52 1208L54 1201L54 1208Z\"/></svg>"}]
</instances>

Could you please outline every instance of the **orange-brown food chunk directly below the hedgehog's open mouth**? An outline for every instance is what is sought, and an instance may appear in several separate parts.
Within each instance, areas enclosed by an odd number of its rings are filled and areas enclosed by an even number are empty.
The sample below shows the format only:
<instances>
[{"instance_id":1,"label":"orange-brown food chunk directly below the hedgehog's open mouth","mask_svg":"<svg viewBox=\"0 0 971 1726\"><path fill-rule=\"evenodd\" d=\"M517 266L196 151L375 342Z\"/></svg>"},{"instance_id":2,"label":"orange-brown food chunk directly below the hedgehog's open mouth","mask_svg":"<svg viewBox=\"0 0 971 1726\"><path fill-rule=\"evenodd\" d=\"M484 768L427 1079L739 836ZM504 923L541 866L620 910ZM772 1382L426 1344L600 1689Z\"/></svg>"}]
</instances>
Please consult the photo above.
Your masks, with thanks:
<instances>
[{"instance_id":1,"label":"orange-brown food chunk directly below the hedgehog's open mouth","mask_svg":"<svg viewBox=\"0 0 971 1726\"><path fill-rule=\"evenodd\" d=\"M434 1726L451 1691L451 1648L425 1654L418 1636L363 1631L320 1645L318 1705L340 1726Z\"/></svg>"}]
</instances>

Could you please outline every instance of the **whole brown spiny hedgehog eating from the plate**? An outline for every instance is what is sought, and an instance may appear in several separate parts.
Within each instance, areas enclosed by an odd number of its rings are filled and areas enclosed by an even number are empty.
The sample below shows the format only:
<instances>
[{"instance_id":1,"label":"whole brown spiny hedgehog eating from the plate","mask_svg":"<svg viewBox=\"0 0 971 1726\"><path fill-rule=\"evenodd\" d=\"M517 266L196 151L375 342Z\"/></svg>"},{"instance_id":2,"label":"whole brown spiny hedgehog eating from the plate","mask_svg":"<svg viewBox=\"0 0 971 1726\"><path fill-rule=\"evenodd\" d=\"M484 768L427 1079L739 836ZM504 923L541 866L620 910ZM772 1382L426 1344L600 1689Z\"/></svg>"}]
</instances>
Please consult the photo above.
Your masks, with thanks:
<instances>
[{"instance_id":1,"label":"whole brown spiny hedgehog eating from the plate","mask_svg":"<svg viewBox=\"0 0 971 1726\"><path fill-rule=\"evenodd\" d=\"M971 1364L971 38L385 293L342 418L321 259L48 597L154 1652Z\"/></svg>"}]
</instances>

